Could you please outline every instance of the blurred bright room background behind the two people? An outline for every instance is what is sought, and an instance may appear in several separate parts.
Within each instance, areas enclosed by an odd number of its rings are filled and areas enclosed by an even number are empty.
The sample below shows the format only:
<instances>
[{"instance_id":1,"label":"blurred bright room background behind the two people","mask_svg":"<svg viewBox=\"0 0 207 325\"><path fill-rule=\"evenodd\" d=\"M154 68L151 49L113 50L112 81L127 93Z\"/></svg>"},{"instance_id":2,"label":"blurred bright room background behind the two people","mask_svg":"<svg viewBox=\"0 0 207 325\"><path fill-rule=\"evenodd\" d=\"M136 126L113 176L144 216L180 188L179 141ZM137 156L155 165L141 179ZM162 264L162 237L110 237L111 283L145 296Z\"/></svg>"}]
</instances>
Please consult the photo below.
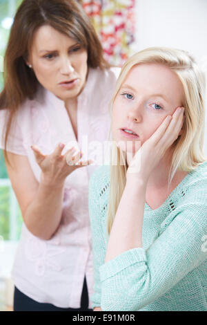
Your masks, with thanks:
<instances>
[{"instance_id":1,"label":"blurred bright room background behind the two people","mask_svg":"<svg viewBox=\"0 0 207 325\"><path fill-rule=\"evenodd\" d=\"M79 2L92 19L105 57L111 64L121 66L130 55L143 48L170 46L188 50L207 72L206 0ZM0 91L3 89L3 55L12 18L20 3L21 0L0 0ZM204 151L207 156L206 135ZM0 310L12 310L10 272L21 224L21 212L0 150Z\"/></svg>"}]
</instances>

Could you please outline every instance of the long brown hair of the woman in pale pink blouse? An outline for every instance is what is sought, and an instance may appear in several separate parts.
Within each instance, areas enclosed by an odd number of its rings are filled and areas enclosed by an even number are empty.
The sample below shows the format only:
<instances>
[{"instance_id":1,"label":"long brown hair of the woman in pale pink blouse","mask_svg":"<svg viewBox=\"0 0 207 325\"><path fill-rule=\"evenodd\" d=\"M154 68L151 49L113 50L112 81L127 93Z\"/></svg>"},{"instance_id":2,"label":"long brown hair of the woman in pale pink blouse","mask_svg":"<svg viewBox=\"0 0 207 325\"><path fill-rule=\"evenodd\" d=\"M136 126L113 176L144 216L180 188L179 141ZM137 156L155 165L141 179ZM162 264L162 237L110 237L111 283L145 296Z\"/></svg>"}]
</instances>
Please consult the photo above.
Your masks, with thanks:
<instances>
[{"instance_id":1,"label":"long brown hair of the woman in pale pink blouse","mask_svg":"<svg viewBox=\"0 0 207 325\"><path fill-rule=\"evenodd\" d=\"M110 67L103 58L103 49L90 18L78 1L23 0L14 17L4 57L4 87L0 94L0 109L9 111L5 150L15 113L26 98L32 99L37 92L39 81L26 61L34 32L43 25L52 26L86 48L88 67ZM7 153L5 158L8 161Z\"/></svg>"}]
</instances>

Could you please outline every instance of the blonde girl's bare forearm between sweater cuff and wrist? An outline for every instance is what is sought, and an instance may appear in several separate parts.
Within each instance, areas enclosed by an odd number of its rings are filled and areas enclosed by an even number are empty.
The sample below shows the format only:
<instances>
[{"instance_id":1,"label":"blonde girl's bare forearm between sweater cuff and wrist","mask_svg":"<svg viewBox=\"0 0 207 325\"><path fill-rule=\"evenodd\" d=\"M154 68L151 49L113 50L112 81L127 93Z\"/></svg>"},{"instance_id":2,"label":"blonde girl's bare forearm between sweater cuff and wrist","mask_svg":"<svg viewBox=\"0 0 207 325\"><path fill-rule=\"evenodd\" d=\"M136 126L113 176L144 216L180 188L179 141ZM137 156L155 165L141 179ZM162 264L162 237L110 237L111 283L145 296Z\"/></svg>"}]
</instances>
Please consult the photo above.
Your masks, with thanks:
<instances>
[{"instance_id":1,"label":"blonde girl's bare forearm between sweater cuff and wrist","mask_svg":"<svg viewBox=\"0 0 207 325\"><path fill-rule=\"evenodd\" d=\"M128 181L112 225L105 262L132 248L142 247L146 182Z\"/></svg>"}]
</instances>

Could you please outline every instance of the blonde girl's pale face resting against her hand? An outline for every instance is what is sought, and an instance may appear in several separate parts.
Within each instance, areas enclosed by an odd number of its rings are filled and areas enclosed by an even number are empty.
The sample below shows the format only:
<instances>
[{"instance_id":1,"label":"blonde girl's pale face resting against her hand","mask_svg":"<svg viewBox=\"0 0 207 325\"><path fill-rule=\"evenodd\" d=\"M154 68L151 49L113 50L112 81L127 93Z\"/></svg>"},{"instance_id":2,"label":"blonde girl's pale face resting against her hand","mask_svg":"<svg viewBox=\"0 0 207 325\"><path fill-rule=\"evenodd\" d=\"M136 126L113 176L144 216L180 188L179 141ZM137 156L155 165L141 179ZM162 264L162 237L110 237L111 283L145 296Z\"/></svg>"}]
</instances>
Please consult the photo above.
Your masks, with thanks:
<instances>
[{"instance_id":1,"label":"blonde girl's pale face resting against her hand","mask_svg":"<svg viewBox=\"0 0 207 325\"><path fill-rule=\"evenodd\" d=\"M135 154L164 118L182 106L183 98L183 86L170 68L162 64L133 66L112 108L112 136L117 147Z\"/></svg>"}]
</instances>

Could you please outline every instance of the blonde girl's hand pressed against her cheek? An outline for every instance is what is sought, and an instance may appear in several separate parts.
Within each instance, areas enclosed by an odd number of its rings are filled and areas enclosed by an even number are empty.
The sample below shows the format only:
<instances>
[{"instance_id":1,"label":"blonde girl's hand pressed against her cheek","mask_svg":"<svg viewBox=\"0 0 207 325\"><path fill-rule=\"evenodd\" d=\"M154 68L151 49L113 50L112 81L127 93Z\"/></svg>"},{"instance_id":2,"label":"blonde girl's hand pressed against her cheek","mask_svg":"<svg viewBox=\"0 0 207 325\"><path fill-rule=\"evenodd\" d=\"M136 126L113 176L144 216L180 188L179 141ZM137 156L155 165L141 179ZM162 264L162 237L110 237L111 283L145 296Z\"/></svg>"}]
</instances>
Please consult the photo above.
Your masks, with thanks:
<instances>
[{"instance_id":1,"label":"blonde girl's hand pressed against her cheek","mask_svg":"<svg viewBox=\"0 0 207 325\"><path fill-rule=\"evenodd\" d=\"M171 115L166 116L158 129L137 151L132 159L126 180L148 182L152 170L158 165L166 150L178 138L184 122L184 107L178 107Z\"/></svg>"}]
</instances>

